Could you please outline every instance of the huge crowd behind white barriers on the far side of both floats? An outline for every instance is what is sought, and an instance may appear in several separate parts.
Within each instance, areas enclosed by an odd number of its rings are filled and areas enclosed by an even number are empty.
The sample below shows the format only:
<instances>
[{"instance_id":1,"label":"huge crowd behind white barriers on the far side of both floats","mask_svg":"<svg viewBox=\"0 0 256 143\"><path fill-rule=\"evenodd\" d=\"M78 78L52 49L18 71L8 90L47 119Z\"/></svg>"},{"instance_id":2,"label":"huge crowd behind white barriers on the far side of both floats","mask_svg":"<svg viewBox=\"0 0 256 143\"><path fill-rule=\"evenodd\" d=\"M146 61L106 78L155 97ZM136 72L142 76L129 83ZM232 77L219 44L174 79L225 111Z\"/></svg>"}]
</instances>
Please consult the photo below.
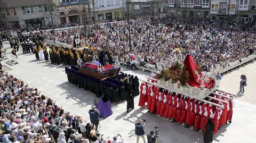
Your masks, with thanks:
<instances>
[{"instance_id":1,"label":"huge crowd behind white barriers on the far side of both floats","mask_svg":"<svg viewBox=\"0 0 256 143\"><path fill-rule=\"evenodd\" d=\"M174 60L173 49L180 48L182 58L192 54L203 70L227 66L228 63L247 57L255 51L256 25L252 23L227 23L210 19L188 20L157 15L151 22L150 16L142 15L131 20L131 52L129 52L129 30L126 21L97 24L84 39L82 27L45 32L45 37L61 43L73 44L78 33L83 44L111 51L113 56L130 58L142 63L163 66ZM177 55L180 58L180 55Z\"/></svg>"}]
</instances>

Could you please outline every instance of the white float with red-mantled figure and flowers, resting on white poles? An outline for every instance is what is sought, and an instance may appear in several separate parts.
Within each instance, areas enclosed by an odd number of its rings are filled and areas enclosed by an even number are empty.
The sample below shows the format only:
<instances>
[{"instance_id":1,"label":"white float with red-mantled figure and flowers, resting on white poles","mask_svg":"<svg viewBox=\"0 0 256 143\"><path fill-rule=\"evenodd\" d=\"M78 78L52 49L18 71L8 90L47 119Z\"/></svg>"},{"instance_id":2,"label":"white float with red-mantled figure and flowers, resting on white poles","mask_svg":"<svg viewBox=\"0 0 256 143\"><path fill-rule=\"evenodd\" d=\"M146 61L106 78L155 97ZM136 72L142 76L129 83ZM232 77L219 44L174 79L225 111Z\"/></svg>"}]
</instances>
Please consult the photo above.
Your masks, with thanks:
<instances>
[{"instance_id":1,"label":"white float with red-mantled figure and flowers, resting on white poles","mask_svg":"<svg viewBox=\"0 0 256 143\"><path fill-rule=\"evenodd\" d=\"M175 49L175 51L181 54L178 49ZM140 79L140 81L203 103L224 108L221 103L229 104L228 100L233 100L236 94L217 88L215 77L218 72L218 69L211 70L210 72L201 72L195 64L193 57L187 55L184 62L174 57L170 68L158 73L154 78Z\"/></svg>"}]
</instances>

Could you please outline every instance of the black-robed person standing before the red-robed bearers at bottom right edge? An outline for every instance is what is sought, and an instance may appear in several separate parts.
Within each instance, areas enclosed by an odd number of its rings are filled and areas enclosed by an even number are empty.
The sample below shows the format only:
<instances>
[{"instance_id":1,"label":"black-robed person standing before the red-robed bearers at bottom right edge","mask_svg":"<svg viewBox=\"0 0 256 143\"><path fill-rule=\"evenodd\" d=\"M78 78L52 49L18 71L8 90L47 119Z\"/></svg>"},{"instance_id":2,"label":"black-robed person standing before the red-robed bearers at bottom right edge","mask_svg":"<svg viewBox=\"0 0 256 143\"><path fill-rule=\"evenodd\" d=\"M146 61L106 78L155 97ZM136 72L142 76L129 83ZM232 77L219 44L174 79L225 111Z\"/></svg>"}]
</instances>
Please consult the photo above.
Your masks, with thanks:
<instances>
[{"instance_id":1,"label":"black-robed person standing before the red-robed bearers at bottom right edge","mask_svg":"<svg viewBox=\"0 0 256 143\"><path fill-rule=\"evenodd\" d=\"M205 125L205 133L204 133L204 142L210 143L212 142L212 134L214 131L214 123L212 122L212 119L208 119L207 124Z\"/></svg>"}]
</instances>

